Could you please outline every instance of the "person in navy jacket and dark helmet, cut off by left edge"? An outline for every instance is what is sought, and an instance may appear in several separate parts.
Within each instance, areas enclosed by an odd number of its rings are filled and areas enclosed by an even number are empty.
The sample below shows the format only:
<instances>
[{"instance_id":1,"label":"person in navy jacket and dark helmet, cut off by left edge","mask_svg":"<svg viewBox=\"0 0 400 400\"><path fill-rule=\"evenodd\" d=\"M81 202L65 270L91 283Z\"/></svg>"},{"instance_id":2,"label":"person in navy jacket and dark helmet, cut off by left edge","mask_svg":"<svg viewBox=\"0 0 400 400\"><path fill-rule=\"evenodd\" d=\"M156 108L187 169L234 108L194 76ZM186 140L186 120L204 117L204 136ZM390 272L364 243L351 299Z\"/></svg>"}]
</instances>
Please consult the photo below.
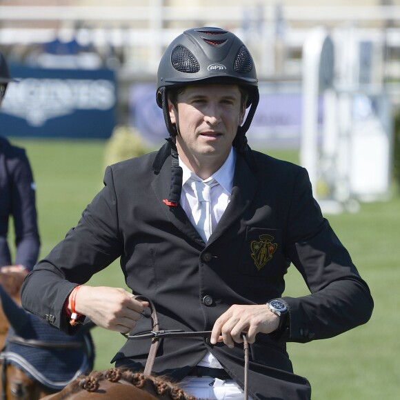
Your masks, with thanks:
<instances>
[{"instance_id":1,"label":"person in navy jacket and dark helmet, cut off by left edge","mask_svg":"<svg viewBox=\"0 0 400 400\"><path fill-rule=\"evenodd\" d=\"M12 81L6 59L0 52L0 105ZM8 223L12 217L16 255L11 259ZM25 150L0 137L0 267L3 272L32 270L39 255L39 232L35 186Z\"/></svg>"}]
</instances>

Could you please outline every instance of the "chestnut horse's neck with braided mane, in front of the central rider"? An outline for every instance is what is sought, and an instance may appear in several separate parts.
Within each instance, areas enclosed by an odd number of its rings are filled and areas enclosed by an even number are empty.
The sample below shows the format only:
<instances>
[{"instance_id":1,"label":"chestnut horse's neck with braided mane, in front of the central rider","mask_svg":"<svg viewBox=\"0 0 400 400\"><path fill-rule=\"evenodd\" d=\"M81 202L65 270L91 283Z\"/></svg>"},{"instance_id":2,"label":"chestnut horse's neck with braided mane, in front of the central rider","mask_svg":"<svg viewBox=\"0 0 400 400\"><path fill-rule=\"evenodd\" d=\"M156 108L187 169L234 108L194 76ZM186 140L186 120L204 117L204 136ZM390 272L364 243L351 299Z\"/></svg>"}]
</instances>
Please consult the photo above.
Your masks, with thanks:
<instances>
[{"instance_id":1,"label":"chestnut horse's neck with braided mane, in front of the central rider","mask_svg":"<svg viewBox=\"0 0 400 400\"><path fill-rule=\"evenodd\" d=\"M123 368L93 371L43 400L195 400L168 379Z\"/></svg>"}]
</instances>

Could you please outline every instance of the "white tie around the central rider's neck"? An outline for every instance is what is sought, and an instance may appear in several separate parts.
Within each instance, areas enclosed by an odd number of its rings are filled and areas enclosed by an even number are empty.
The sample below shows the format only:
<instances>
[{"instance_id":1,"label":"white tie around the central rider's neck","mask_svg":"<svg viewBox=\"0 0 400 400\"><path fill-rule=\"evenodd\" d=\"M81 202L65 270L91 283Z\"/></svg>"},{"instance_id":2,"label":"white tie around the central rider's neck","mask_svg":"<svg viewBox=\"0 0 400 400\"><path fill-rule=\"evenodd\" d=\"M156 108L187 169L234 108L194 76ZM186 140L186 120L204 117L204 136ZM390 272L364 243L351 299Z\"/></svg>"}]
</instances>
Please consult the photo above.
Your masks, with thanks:
<instances>
[{"instance_id":1,"label":"white tie around the central rider's neck","mask_svg":"<svg viewBox=\"0 0 400 400\"><path fill-rule=\"evenodd\" d=\"M190 179L190 186L197 197L197 205L192 210L192 215L197 231L205 243L212 234L211 188L217 184L218 182L215 179L210 179L207 182Z\"/></svg>"}]
</instances>

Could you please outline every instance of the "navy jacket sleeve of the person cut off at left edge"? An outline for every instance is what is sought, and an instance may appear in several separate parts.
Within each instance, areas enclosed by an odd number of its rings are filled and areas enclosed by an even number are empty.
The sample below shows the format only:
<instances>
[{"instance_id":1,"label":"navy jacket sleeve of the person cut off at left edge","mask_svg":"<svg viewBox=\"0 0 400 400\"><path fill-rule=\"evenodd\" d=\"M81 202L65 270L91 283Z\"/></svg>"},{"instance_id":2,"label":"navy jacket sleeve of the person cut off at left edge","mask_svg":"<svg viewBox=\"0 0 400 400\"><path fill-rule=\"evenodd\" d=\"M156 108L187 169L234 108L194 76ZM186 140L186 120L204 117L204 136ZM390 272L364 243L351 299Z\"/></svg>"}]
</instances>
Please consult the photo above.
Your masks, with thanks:
<instances>
[{"instance_id":1,"label":"navy jacket sleeve of the person cut off at left edge","mask_svg":"<svg viewBox=\"0 0 400 400\"><path fill-rule=\"evenodd\" d=\"M11 214L17 249L14 264L32 270L40 248L35 186L25 151L14 148L14 154L16 157L10 158Z\"/></svg>"}]
</instances>

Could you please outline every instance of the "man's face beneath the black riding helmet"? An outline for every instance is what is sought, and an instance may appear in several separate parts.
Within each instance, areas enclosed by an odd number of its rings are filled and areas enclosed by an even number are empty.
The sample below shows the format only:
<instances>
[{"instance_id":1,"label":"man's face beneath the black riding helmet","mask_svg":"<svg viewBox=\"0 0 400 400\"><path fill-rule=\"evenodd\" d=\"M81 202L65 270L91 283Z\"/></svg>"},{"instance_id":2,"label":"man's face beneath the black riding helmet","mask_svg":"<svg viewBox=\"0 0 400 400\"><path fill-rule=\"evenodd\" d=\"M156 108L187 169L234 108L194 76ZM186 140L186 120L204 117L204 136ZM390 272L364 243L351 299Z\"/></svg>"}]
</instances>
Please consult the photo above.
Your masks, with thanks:
<instances>
[{"instance_id":1,"label":"man's face beneath the black riding helmet","mask_svg":"<svg viewBox=\"0 0 400 400\"><path fill-rule=\"evenodd\" d=\"M177 109L169 102L169 110L172 123L177 124L181 157L222 165L246 108L241 106L237 85L193 85L178 94Z\"/></svg>"}]
</instances>

